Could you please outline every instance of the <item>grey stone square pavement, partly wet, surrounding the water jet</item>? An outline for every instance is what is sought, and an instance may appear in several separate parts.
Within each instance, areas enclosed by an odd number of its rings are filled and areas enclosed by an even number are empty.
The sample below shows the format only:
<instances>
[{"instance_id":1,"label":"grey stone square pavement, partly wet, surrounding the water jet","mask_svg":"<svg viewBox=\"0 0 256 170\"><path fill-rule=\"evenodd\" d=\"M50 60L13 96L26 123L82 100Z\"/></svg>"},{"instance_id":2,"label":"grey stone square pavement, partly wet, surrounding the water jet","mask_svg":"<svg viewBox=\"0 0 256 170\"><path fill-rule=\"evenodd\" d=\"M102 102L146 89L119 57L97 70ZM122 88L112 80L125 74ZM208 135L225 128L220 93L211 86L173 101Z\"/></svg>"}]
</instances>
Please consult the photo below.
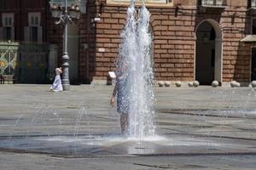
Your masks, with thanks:
<instances>
[{"instance_id":1,"label":"grey stone square pavement, partly wet, surrounding the water jet","mask_svg":"<svg viewBox=\"0 0 256 170\"><path fill-rule=\"evenodd\" d=\"M255 169L252 88L155 88L157 136L124 137L112 86L0 86L2 169ZM19 165L19 166L18 166Z\"/></svg>"}]
</instances>

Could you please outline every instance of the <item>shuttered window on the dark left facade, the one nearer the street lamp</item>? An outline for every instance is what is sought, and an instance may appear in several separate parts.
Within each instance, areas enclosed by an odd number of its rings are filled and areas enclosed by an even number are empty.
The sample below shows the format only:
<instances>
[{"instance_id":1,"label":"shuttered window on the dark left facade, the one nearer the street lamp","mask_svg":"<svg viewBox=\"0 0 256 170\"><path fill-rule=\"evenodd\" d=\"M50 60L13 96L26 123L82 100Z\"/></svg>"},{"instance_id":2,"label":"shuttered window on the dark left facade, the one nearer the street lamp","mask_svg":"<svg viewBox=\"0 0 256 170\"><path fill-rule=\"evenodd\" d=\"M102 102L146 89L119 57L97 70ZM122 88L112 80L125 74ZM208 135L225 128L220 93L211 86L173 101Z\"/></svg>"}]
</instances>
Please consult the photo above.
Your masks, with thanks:
<instances>
[{"instance_id":1,"label":"shuttered window on the dark left facade, the one nearer the street lamp","mask_svg":"<svg viewBox=\"0 0 256 170\"><path fill-rule=\"evenodd\" d=\"M24 28L24 40L26 42L42 42L42 26L40 13L28 14L28 26Z\"/></svg>"}]
</instances>

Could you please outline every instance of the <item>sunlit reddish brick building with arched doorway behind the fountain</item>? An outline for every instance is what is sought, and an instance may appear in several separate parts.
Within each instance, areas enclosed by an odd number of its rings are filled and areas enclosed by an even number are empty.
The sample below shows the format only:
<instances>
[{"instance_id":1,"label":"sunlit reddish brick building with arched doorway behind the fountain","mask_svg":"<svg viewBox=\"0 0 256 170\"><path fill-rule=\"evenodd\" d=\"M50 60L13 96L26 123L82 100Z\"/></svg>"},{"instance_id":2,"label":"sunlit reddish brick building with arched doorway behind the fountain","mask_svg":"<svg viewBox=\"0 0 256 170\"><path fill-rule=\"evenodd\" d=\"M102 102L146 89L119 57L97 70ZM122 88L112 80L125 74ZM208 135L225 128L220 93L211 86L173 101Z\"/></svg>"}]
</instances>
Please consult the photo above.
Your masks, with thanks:
<instances>
[{"instance_id":1,"label":"sunlit reddish brick building with arched doorway behind the fountain","mask_svg":"<svg viewBox=\"0 0 256 170\"><path fill-rule=\"evenodd\" d=\"M101 20L95 26L94 80L106 78L113 70L125 4L119 0L96 3L93 14ZM201 84L255 80L254 40L250 37L254 34L255 1L152 0L147 7L154 35L156 80L198 80Z\"/></svg>"}]
</instances>

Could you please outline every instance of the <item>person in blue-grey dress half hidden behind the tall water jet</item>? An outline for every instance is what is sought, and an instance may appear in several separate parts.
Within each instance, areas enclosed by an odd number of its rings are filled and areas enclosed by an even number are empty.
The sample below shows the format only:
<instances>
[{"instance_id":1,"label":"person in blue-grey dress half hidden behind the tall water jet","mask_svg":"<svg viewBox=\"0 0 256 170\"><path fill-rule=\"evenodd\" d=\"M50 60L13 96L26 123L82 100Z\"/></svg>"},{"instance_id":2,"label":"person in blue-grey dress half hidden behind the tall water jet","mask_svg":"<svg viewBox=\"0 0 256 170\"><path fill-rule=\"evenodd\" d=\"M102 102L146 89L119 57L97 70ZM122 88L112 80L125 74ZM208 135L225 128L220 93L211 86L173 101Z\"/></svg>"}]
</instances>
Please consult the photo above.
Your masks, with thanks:
<instances>
[{"instance_id":1,"label":"person in blue-grey dress half hidden behind the tall water jet","mask_svg":"<svg viewBox=\"0 0 256 170\"><path fill-rule=\"evenodd\" d=\"M120 61L121 59L119 59ZM127 133L128 129L128 111L129 111L129 99L128 99L128 93L127 93L127 64L124 60L120 61L117 65L117 71L115 71L116 74L116 83L113 88L113 95L110 99L110 105L113 106L114 104L114 98L117 94L117 111L120 114L120 126L122 133Z\"/></svg>"}]
</instances>

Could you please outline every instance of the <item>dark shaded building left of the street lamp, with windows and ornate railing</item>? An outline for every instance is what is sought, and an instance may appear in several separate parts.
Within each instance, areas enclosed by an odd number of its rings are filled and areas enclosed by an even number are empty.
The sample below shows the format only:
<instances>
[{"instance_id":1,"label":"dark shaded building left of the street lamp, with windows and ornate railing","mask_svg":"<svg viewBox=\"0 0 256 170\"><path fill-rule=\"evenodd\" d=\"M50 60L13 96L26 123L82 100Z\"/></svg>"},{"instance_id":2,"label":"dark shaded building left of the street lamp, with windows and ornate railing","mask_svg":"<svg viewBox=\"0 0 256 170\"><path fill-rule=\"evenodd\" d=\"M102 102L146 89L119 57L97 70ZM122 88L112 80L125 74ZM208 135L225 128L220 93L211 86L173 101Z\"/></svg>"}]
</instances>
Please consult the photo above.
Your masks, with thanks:
<instances>
[{"instance_id":1,"label":"dark shaded building left of the street lamp, with windows and ornate railing","mask_svg":"<svg viewBox=\"0 0 256 170\"><path fill-rule=\"evenodd\" d=\"M0 73L18 82L48 82L48 2L0 1Z\"/></svg>"}]
</instances>

